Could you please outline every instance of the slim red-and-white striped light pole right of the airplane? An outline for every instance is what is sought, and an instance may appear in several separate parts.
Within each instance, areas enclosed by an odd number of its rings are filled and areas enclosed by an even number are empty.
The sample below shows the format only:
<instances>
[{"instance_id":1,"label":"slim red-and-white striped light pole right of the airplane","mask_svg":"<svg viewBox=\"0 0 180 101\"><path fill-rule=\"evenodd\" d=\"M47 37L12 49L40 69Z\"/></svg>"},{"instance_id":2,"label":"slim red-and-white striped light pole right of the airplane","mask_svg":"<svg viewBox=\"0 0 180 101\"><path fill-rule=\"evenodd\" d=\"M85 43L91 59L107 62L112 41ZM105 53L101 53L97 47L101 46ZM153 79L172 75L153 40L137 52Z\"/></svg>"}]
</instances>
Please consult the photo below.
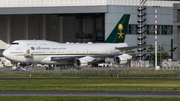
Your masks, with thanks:
<instances>
[{"instance_id":1,"label":"slim red-and-white striped light pole right of the airplane","mask_svg":"<svg viewBox=\"0 0 180 101\"><path fill-rule=\"evenodd\" d=\"M160 6L153 6L155 8L155 70L157 70L157 8Z\"/></svg>"}]
</instances>

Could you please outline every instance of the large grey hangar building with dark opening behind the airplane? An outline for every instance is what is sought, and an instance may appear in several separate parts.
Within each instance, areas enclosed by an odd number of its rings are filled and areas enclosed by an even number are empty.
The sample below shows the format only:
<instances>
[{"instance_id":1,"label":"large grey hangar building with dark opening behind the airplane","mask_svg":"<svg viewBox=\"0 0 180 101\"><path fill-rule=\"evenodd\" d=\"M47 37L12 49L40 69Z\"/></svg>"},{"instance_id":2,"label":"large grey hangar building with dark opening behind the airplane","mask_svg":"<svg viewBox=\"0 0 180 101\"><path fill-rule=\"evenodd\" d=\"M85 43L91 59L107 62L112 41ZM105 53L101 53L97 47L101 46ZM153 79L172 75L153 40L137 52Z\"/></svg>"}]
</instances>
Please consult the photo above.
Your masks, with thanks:
<instances>
[{"instance_id":1,"label":"large grey hangar building with dark opening behind the airplane","mask_svg":"<svg viewBox=\"0 0 180 101\"><path fill-rule=\"evenodd\" d=\"M0 0L0 39L102 42L123 14L131 14L125 42L154 44L157 6L158 45L171 49L173 3L178 0ZM141 16L141 14L144 16ZM142 21L143 19L143 21ZM139 30L145 25L144 30ZM140 33L144 31L145 39ZM174 55L174 59L177 56Z\"/></svg>"}]
</instances>

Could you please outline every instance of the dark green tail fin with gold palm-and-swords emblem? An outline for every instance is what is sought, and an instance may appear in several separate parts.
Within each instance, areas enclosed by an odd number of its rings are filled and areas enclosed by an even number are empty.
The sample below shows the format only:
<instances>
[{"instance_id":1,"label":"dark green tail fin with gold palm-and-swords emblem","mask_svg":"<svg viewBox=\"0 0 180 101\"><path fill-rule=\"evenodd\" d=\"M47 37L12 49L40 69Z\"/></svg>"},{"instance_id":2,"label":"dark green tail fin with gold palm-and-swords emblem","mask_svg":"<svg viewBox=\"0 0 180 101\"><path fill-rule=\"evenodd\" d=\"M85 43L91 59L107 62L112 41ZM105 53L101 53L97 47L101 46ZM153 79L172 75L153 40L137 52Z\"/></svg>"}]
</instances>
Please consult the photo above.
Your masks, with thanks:
<instances>
[{"instance_id":1,"label":"dark green tail fin with gold palm-and-swords emblem","mask_svg":"<svg viewBox=\"0 0 180 101\"><path fill-rule=\"evenodd\" d=\"M130 14L124 14L104 43L123 43L127 32L129 18Z\"/></svg>"}]
</instances>

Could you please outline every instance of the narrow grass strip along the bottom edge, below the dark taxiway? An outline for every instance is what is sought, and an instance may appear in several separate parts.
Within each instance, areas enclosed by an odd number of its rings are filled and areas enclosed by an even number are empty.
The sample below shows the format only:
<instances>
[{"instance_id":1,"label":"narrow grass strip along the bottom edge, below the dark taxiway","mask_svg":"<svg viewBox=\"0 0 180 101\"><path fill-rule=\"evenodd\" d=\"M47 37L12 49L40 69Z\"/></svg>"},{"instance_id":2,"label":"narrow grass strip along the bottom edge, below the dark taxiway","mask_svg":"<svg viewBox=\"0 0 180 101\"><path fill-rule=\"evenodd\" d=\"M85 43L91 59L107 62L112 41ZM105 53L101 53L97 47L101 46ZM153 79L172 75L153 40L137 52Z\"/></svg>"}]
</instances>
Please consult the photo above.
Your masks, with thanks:
<instances>
[{"instance_id":1,"label":"narrow grass strip along the bottom edge, below the dark taxiway","mask_svg":"<svg viewBox=\"0 0 180 101\"><path fill-rule=\"evenodd\" d=\"M0 96L1 101L180 101L179 98L125 98L94 96Z\"/></svg>"}]
</instances>

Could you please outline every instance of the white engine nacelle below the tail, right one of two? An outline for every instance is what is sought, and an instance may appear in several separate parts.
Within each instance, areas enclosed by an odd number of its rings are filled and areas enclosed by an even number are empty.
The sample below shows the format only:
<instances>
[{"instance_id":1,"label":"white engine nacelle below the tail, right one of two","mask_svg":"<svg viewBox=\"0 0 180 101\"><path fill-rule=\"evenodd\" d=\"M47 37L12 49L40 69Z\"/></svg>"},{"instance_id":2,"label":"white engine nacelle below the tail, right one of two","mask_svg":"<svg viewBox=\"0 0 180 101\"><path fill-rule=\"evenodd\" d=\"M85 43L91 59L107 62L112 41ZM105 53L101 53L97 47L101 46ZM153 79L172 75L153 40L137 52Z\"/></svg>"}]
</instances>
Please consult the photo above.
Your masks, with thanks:
<instances>
[{"instance_id":1,"label":"white engine nacelle below the tail, right one of two","mask_svg":"<svg viewBox=\"0 0 180 101\"><path fill-rule=\"evenodd\" d=\"M124 65L127 63L127 58L123 57L123 56L115 56L114 57L114 63L117 65Z\"/></svg>"}]
</instances>

